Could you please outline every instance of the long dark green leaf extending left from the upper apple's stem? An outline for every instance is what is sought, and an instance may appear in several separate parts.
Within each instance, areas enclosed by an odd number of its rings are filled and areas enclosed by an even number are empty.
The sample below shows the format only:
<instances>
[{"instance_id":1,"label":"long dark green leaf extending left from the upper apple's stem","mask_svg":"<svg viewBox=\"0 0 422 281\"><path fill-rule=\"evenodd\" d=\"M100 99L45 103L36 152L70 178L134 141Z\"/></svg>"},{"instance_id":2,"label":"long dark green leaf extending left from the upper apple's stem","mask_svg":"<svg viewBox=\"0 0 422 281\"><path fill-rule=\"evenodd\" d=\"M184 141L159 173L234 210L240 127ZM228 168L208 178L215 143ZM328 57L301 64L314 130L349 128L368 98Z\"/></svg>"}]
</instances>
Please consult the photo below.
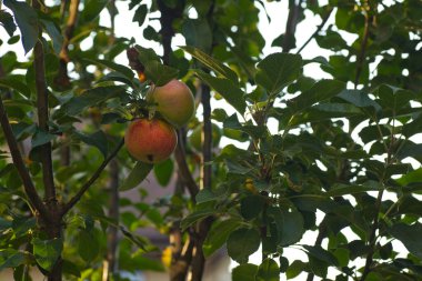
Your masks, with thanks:
<instances>
[{"instance_id":1,"label":"long dark green leaf extending left from the upper apple's stem","mask_svg":"<svg viewBox=\"0 0 422 281\"><path fill-rule=\"evenodd\" d=\"M117 98L125 94L125 90L121 86L97 87L82 92L78 97L71 98L58 111L57 114L78 116L88 107L98 106L108 99Z\"/></svg>"}]
</instances>

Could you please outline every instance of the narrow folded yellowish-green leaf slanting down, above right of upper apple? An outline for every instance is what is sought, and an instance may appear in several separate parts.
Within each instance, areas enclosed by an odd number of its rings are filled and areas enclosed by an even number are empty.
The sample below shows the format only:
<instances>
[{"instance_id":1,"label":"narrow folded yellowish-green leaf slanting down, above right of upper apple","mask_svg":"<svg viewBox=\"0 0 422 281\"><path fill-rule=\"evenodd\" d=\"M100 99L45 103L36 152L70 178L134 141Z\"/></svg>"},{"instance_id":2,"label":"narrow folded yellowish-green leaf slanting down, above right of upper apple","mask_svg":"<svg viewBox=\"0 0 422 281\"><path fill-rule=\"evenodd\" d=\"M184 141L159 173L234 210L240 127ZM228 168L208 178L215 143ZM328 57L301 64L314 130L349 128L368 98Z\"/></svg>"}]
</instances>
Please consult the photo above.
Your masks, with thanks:
<instances>
[{"instance_id":1,"label":"narrow folded yellowish-green leaf slanting down, above right of upper apple","mask_svg":"<svg viewBox=\"0 0 422 281\"><path fill-rule=\"evenodd\" d=\"M223 76L224 78L231 80L234 84L238 84L238 76L237 73L231 70L229 67L224 66L220 61L215 60L214 58L210 57L209 54L204 53L198 48L184 46L181 47L184 51L192 54L193 58L202 62L204 66L207 66L210 70Z\"/></svg>"}]
</instances>

